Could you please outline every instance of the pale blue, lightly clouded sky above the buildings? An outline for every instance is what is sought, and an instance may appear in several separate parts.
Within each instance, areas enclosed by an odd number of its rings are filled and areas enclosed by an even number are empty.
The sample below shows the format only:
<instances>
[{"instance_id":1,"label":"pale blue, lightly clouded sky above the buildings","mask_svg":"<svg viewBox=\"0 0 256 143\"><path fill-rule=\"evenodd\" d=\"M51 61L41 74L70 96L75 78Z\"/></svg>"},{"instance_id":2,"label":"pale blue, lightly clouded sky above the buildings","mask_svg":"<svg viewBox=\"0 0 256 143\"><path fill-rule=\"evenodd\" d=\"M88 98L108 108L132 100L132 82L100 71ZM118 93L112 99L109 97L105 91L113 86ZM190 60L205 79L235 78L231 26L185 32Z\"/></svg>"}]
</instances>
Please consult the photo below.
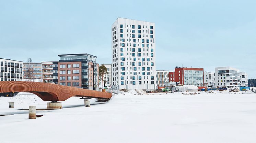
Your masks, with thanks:
<instances>
[{"instance_id":1,"label":"pale blue, lightly clouded sky above the buildings","mask_svg":"<svg viewBox=\"0 0 256 143\"><path fill-rule=\"evenodd\" d=\"M0 57L88 53L111 63L111 26L123 17L155 23L157 70L230 66L256 78L255 7L255 0L0 0Z\"/></svg>"}]
</instances>

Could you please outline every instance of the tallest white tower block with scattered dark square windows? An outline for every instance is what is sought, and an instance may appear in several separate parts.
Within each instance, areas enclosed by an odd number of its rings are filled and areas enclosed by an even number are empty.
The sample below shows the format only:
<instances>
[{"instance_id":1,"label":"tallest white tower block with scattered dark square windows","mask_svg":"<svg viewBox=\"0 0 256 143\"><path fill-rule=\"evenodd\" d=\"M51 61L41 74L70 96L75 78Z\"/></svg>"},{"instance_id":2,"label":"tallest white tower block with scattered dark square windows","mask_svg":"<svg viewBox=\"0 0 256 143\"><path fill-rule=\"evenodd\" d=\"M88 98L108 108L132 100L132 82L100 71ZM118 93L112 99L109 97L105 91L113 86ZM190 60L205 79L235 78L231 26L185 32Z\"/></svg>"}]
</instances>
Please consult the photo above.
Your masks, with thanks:
<instances>
[{"instance_id":1,"label":"tallest white tower block with scattered dark square windows","mask_svg":"<svg viewBox=\"0 0 256 143\"><path fill-rule=\"evenodd\" d=\"M111 37L113 89L155 89L155 24L117 18Z\"/></svg>"}]
</instances>

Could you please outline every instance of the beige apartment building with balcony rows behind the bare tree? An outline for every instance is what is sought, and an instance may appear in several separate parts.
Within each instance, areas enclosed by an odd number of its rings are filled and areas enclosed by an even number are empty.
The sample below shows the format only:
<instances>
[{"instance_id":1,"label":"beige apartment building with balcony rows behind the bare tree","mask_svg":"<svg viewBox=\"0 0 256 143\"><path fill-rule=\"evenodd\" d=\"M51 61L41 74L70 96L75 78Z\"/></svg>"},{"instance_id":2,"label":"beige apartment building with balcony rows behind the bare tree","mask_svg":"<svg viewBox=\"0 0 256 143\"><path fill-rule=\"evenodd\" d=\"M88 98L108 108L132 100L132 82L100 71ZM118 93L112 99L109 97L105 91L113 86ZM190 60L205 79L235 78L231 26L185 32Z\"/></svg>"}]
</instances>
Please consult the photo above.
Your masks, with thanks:
<instances>
[{"instance_id":1,"label":"beige apartment building with balcony rows behind the bare tree","mask_svg":"<svg viewBox=\"0 0 256 143\"><path fill-rule=\"evenodd\" d=\"M33 72L29 77L29 73ZM42 63L41 62L23 62L23 81L32 78L34 82L40 82L42 79Z\"/></svg>"}]
</instances>

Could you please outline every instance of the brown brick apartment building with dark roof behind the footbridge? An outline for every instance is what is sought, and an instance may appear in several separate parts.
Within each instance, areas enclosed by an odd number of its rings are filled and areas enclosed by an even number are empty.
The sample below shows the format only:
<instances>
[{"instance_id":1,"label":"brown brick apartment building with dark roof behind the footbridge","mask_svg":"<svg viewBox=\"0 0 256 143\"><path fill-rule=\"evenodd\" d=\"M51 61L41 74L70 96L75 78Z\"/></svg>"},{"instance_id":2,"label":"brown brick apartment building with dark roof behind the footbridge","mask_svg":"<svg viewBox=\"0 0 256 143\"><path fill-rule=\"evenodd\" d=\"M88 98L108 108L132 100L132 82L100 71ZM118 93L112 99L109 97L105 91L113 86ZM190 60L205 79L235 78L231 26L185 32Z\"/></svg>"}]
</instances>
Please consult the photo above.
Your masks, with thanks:
<instances>
[{"instance_id":1,"label":"brown brick apartment building with dark roof behind the footbridge","mask_svg":"<svg viewBox=\"0 0 256 143\"><path fill-rule=\"evenodd\" d=\"M90 54L58 55L53 62L53 83L91 90L98 90L99 64Z\"/></svg>"}]
</instances>

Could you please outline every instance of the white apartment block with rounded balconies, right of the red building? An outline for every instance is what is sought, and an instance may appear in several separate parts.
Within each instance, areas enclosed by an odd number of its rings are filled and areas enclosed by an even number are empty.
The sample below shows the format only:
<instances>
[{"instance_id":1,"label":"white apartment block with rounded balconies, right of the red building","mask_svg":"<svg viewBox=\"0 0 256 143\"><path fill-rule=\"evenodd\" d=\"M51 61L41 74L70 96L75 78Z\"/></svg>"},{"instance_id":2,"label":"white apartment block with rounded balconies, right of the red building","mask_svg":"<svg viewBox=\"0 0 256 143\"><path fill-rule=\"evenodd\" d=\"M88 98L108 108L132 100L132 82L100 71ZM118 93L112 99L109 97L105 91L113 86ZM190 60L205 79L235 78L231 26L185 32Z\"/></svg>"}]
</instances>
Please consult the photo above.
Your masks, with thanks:
<instances>
[{"instance_id":1,"label":"white apartment block with rounded balconies, right of the red building","mask_svg":"<svg viewBox=\"0 0 256 143\"><path fill-rule=\"evenodd\" d=\"M238 69L231 67L215 68L216 87L234 88L240 87L240 73Z\"/></svg>"}]
</instances>

